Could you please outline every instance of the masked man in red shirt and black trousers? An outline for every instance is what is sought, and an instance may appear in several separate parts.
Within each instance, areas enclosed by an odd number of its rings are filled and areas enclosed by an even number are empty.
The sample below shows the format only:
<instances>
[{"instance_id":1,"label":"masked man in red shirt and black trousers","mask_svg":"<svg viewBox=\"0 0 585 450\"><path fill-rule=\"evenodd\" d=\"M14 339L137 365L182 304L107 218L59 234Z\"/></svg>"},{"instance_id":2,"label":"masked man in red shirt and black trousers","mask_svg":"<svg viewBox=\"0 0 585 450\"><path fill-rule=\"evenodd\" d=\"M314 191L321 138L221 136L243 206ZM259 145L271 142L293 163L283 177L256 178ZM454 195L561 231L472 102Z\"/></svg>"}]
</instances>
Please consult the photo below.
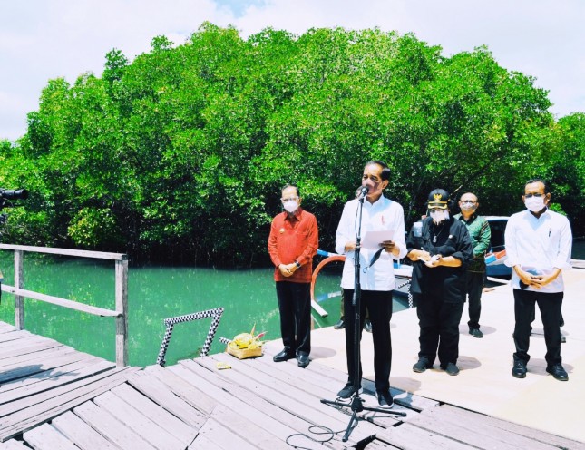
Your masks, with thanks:
<instances>
[{"instance_id":1,"label":"masked man in red shirt and black trousers","mask_svg":"<svg viewBox=\"0 0 585 450\"><path fill-rule=\"evenodd\" d=\"M307 367L311 352L311 276L319 234L317 219L300 207L297 186L282 189L285 211L272 220L268 253L275 266L280 333L284 349L275 362L297 357L299 367Z\"/></svg>"}]
</instances>

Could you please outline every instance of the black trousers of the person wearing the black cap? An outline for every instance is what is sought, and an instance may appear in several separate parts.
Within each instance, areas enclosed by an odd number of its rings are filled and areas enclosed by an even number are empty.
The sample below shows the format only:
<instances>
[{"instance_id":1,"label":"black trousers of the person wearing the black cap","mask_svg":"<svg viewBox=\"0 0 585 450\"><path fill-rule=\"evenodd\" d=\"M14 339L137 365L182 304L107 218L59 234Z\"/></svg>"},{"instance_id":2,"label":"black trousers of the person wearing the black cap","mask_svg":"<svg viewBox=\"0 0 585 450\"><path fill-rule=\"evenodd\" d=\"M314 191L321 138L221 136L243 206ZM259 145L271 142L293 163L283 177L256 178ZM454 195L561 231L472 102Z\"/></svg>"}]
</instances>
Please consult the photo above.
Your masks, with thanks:
<instances>
[{"instance_id":1,"label":"black trousers of the person wearing the black cap","mask_svg":"<svg viewBox=\"0 0 585 450\"><path fill-rule=\"evenodd\" d=\"M421 328L419 359L426 359L432 366L438 354L441 367L448 363L457 364L463 301L446 302L442 296L433 294L413 294L413 298Z\"/></svg>"}]
</instances>

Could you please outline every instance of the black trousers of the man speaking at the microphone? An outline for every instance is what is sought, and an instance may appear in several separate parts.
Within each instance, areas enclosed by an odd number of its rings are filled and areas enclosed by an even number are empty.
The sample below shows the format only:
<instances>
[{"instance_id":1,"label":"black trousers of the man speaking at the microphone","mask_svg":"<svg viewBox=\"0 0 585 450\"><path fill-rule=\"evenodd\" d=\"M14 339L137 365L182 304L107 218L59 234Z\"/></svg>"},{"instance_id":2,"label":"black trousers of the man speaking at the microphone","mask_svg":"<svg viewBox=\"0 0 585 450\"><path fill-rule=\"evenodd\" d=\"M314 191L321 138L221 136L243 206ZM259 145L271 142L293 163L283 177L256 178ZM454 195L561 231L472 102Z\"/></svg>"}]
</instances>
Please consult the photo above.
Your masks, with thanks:
<instances>
[{"instance_id":1,"label":"black trousers of the man speaking at the microphone","mask_svg":"<svg viewBox=\"0 0 585 450\"><path fill-rule=\"evenodd\" d=\"M343 289L344 308L346 311L346 356L347 383L354 384L356 376L355 323L356 307L352 305L354 289ZM390 336L390 319L392 318L392 290L362 290L359 313L359 336L366 317L366 308L372 322L374 339L374 376L375 390L387 392L390 389L390 367L392 366L392 337ZM362 361L359 361L359 383L362 381Z\"/></svg>"}]
</instances>

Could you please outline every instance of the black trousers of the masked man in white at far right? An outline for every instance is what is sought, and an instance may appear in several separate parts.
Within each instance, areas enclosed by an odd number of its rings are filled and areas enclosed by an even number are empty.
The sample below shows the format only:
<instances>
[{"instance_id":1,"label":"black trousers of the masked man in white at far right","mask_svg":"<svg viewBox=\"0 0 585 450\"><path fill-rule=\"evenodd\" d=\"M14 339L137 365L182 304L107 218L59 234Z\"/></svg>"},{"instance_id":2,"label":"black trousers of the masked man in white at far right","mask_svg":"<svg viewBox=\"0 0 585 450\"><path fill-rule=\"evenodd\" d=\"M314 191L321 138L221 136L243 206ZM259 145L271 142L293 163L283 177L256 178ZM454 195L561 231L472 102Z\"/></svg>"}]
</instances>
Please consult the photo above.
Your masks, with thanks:
<instances>
[{"instance_id":1,"label":"black trousers of the masked man in white at far right","mask_svg":"<svg viewBox=\"0 0 585 450\"><path fill-rule=\"evenodd\" d=\"M535 304L541 310L541 320L544 327L544 342L546 344L547 365L561 364L561 306L563 292L536 292L531 290L513 289L514 291L514 361L530 360L528 349L534 320Z\"/></svg>"}]
</instances>

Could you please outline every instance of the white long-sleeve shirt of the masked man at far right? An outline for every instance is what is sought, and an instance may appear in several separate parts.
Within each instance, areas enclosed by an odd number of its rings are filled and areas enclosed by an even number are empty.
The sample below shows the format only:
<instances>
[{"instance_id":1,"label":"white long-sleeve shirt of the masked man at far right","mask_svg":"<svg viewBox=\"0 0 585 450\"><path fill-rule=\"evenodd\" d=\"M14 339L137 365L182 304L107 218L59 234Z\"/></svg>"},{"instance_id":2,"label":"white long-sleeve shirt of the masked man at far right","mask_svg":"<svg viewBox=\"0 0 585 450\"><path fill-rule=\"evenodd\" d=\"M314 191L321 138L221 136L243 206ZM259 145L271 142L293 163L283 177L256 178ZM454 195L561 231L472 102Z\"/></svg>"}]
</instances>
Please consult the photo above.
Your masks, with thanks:
<instances>
[{"instance_id":1,"label":"white long-sleeve shirt of the masked man at far right","mask_svg":"<svg viewBox=\"0 0 585 450\"><path fill-rule=\"evenodd\" d=\"M520 264L522 270L534 275L551 273L561 269L551 283L536 290L538 292L562 292L564 283L562 270L570 269L572 234L567 218L557 212L546 210L536 218L529 210L512 214L504 233L506 244L506 266ZM520 277L512 270L512 288L520 288Z\"/></svg>"}]
</instances>

